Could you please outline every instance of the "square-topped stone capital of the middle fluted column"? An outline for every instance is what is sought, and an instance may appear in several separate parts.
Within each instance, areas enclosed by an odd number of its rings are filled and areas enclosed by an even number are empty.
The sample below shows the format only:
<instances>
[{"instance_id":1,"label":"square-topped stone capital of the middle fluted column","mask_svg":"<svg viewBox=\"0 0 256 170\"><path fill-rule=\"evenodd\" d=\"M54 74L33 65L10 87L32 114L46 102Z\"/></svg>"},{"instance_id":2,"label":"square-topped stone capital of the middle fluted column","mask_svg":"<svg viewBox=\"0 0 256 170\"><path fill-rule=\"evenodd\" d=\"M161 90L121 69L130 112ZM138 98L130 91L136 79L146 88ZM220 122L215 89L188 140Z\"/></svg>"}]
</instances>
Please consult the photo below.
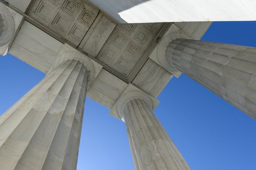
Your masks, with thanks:
<instances>
[{"instance_id":1,"label":"square-topped stone capital of the middle fluted column","mask_svg":"<svg viewBox=\"0 0 256 170\"><path fill-rule=\"evenodd\" d=\"M129 101L138 98L143 99L151 110L153 110L159 103L159 101L156 98L150 96L148 93L142 91L138 87L129 84L111 108L110 114L124 121L124 107Z\"/></svg>"}]
</instances>

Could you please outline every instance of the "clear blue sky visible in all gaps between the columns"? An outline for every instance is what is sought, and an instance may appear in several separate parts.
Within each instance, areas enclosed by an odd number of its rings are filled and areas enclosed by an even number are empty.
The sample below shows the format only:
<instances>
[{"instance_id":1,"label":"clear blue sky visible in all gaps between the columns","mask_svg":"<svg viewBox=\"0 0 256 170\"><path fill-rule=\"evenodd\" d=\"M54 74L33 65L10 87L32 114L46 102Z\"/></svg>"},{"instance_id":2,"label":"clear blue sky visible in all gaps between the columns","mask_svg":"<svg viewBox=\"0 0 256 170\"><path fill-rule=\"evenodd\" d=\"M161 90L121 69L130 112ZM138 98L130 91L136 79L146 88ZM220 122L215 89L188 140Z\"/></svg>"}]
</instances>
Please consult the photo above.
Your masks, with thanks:
<instances>
[{"instance_id":1,"label":"clear blue sky visible in all gaps between the columns","mask_svg":"<svg viewBox=\"0 0 256 170\"><path fill-rule=\"evenodd\" d=\"M215 22L202 40L256 47L256 22ZM0 114L44 74L0 57ZM173 78L155 114L192 170L256 170L256 120L186 75ZM77 170L134 170L125 124L86 99Z\"/></svg>"}]
</instances>

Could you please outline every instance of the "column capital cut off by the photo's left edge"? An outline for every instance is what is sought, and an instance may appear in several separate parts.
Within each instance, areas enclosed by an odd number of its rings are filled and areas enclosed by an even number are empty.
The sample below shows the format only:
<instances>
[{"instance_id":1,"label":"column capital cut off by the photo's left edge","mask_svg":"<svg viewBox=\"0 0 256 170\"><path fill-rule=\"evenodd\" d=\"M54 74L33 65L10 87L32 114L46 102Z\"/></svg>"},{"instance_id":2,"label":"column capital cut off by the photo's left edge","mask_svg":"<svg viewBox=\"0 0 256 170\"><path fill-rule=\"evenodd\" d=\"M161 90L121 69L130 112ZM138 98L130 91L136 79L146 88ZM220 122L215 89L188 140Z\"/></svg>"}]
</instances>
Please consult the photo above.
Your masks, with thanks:
<instances>
[{"instance_id":1,"label":"column capital cut off by the photo's left edge","mask_svg":"<svg viewBox=\"0 0 256 170\"><path fill-rule=\"evenodd\" d=\"M0 55L6 55L24 17L0 3Z\"/></svg>"}]
</instances>

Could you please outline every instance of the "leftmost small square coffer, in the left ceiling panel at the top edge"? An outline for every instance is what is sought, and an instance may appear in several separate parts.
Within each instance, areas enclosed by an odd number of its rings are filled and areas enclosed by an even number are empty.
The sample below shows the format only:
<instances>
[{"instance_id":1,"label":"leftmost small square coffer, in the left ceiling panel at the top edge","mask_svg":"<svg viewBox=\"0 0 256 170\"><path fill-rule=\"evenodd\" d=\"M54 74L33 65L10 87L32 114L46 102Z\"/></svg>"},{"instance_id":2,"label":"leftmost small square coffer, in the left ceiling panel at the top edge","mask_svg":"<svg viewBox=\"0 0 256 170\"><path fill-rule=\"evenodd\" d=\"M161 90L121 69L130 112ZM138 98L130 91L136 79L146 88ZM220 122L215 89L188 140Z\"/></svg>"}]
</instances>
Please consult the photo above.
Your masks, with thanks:
<instances>
[{"instance_id":1,"label":"leftmost small square coffer, in the left ceiling panel at the top edge","mask_svg":"<svg viewBox=\"0 0 256 170\"><path fill-rule=\"evenodd\" d=\"M35 10L35 14L43 18L44 20L48 21L51 17L52 10L53 9L49 5L47 5L43 1L40 1L37 6L37 9Z\"/></svg>"}]
</instances>

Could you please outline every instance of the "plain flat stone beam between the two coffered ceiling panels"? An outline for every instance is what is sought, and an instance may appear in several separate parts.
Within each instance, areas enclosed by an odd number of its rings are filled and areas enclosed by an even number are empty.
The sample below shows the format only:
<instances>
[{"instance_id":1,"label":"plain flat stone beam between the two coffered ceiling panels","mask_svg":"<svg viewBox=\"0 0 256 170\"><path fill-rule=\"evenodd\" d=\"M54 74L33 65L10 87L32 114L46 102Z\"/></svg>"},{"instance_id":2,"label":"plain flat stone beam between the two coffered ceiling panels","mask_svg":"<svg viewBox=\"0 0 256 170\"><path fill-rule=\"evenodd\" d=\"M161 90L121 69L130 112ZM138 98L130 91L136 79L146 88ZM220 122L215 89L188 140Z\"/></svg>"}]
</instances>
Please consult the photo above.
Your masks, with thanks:
<instances>
[{"instance_id":1,"label":"plain flat stone beam between the two coffered ceiling panels","mask_svg":"<svg viewBox=\"0 0 256 170\"><path fill-rule=\"evenodd\" d=\"M115 26L116 24L113 21L100 13L85 35L79 48L96 57Z\"/></svg>"}]
</instances>

